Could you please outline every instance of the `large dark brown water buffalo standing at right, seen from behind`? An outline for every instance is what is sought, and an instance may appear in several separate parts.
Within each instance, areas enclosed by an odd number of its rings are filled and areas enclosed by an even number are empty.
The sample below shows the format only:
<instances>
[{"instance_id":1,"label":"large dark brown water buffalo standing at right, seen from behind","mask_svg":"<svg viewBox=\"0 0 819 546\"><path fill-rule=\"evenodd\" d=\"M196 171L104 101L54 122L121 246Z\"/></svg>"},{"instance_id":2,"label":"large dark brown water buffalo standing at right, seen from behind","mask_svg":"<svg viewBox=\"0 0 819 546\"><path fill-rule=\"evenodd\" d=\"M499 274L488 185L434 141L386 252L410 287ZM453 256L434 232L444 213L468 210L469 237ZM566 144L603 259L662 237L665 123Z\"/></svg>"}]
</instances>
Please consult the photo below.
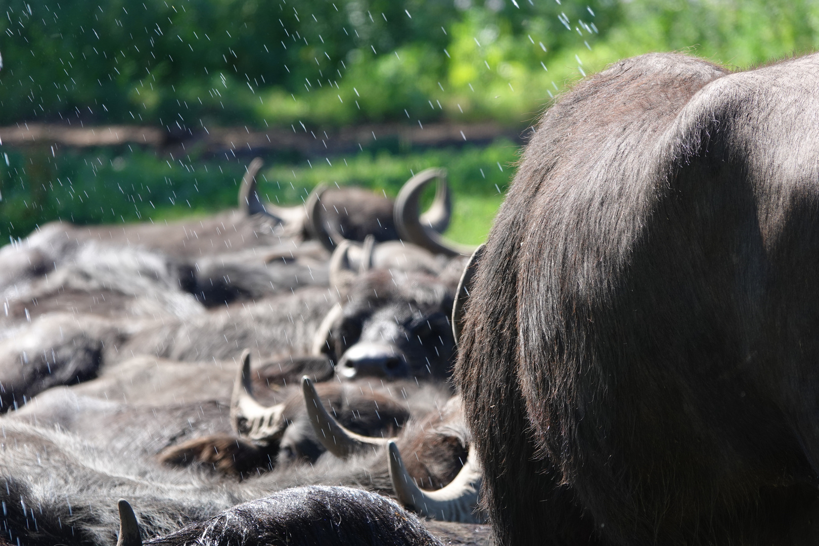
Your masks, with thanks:
<instances>
[{"instance_id":1,"label":"large dark brown water buffalo standing at right, seen from behind","mask_svg":"<svg viewBox=\"0 0 819 546\"><path fill-rule=\"evenodd\" d=\"M455 372L500 544L815 544L817 88L652 54L545 113Z\"/></svg>"}]
</instances>

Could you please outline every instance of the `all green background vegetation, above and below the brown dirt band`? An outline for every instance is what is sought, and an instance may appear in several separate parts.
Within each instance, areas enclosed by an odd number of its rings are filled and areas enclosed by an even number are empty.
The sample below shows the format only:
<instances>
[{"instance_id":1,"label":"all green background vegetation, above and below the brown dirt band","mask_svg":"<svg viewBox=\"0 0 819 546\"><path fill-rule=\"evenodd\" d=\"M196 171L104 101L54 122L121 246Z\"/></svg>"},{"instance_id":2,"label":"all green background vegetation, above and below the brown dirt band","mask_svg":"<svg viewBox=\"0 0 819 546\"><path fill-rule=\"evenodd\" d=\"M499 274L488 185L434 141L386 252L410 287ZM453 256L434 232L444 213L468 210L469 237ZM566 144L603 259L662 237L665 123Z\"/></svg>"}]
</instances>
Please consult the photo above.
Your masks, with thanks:
<instances>
[{"instance_id":1,"label":"all green background vegetation, above and below the brown dirt band","mask_svg":"<svg viewBox=\"0 0 819 546\"><path fill-rule=\"evenodd\" d=\"M246 0L11 0L0 19L0 121L81 114L169 131L417 120L523 127L554 95L623 57L686 51L746 67L819 47L819 3L808 0L330 4L305 0L296 12ZM495 142L370 150L331 157L332 165L271 157L261 190L284 204L301 202L319 182L394 196L411 173L445 166L455 192L448 235L477 242L517 153ZM0 154L3 240L57 218L210 214L235 204L250 160L171 159L128 147L55 156L48 147L0 145Z\"/></svg>"}]
</instances>

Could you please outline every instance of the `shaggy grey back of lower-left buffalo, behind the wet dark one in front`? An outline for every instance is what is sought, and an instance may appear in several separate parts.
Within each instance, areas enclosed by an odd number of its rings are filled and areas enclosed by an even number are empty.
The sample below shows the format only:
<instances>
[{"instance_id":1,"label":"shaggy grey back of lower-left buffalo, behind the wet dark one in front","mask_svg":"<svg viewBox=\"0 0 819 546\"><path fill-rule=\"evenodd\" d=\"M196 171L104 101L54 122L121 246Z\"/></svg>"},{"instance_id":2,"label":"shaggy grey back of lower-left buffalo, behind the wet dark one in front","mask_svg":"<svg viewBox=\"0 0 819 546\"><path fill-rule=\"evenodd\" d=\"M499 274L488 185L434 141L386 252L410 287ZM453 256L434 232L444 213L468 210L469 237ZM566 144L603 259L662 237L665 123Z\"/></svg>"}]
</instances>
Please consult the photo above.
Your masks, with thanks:
<instances>
[{"instance_id":1,"label":"shaggy grey back of lower-left buffalo, behind the wet dark one in front","mask_svg":"<svg viewBox=\"0 0 819 546\"><path fill-rule=\"evenodd\" d=\"M160 467L129 453L115 453L75 435L0 418L2 531L11 542L115 543L116 499L125 498L146 537L166 535L234 504L298 485L347 485L388 493L383 453L346 462L332 458L240 482Z\"/></svg>"}]
</instances>

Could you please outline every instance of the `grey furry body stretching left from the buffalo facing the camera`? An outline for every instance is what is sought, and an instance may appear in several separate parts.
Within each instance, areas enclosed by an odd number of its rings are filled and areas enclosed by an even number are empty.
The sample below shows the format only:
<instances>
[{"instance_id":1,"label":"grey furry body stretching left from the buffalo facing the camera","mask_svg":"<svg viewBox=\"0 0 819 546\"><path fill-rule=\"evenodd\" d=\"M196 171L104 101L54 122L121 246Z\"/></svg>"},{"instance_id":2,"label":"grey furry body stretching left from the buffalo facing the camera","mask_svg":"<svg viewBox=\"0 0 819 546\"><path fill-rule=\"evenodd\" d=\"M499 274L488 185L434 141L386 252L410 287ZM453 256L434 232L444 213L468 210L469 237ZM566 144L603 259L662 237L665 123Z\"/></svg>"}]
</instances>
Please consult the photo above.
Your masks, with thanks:
<instances>
[{"instance_id":1,"label":"grey furry body stretching left from the buffalo facing the camera","mask_svg":"<svg viewBox=\"0 0 819 546\"><path fill-rule=\"evenodd\" d=\"M184 319L43 314L0 332L0 409L51 386L88 381L141 354L189 362L232 362L246 346L257 362L309 354L333 305L333 293L308 287Z\"/></svg>"}]
</instances>

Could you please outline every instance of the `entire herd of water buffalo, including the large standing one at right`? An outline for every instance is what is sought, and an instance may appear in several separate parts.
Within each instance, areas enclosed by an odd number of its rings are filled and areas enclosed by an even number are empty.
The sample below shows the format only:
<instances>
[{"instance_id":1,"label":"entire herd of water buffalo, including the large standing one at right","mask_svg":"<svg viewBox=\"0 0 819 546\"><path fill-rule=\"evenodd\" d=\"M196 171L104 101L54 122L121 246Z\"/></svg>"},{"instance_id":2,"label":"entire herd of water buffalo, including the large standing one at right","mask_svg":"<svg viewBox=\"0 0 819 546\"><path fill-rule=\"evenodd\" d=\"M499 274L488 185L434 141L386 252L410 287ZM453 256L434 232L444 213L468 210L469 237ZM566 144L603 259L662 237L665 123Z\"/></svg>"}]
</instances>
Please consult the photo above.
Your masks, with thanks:
<instances>
[{"instance_id":1,"label":"entire herd of water buffalo, including the large standing one at right","mask_svg":"<svg viewBox=\"0 0 819 546\"><path fill-rule=\"evenodd\" d=\"M611 65L477 249L442 169L287 208L260 160L237 210L3 246L0 544L817 544L817 90Z\"/></svg>"}]
</instances>

